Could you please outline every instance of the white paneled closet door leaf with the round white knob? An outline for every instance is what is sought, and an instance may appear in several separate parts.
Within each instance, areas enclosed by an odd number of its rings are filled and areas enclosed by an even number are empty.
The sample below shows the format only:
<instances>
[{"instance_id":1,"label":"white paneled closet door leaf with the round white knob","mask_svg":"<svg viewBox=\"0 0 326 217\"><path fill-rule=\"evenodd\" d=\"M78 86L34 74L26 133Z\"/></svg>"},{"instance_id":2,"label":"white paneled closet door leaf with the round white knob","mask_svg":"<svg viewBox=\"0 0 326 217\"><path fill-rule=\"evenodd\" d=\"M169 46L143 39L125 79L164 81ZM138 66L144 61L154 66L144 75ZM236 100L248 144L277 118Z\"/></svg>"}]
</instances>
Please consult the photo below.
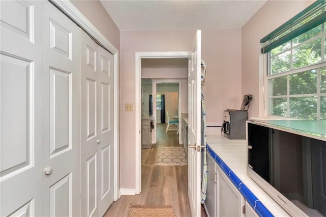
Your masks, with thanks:
<instances>
[{"instance_id":1,"label":"white paneled closet door leaf with the round white knob","mask_svg":"<svg viewBox=\"0 0 326 217\"><path fill-rule=\"evenodd\" d=\"M79 216L79 28L48 1L42 74L43 215Z\"/></svg>"}]
</instances>

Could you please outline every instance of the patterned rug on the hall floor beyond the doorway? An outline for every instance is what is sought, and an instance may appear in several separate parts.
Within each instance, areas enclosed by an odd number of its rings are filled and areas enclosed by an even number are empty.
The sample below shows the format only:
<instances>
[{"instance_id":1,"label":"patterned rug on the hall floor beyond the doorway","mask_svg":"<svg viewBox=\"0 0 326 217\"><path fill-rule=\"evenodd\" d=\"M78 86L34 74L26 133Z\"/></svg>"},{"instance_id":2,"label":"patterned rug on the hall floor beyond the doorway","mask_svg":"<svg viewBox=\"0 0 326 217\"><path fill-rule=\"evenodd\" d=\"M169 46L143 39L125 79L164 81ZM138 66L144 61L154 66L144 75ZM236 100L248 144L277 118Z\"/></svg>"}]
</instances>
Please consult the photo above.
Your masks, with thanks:
<instances>
[{"instance_id":1,"label":"patterned rug on the hall floor beyond the doorway","mask_svg":"<svg viewBox=\"0 0 326 217\"><path fill-rule=\"evenodd\" d=\"M187 158L183 147L158 147L158 166L184 166Z\"/></svg>"}]
</instances>

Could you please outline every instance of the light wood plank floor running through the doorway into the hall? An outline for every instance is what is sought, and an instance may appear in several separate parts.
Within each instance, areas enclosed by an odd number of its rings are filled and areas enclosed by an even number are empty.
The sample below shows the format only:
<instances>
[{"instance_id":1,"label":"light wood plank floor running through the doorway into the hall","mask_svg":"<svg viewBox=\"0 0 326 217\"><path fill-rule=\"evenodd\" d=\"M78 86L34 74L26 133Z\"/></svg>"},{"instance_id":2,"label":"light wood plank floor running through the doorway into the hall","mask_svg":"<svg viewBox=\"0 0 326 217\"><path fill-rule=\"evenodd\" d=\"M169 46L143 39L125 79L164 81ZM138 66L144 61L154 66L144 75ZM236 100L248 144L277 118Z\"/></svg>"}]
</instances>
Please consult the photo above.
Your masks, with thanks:
<instances>
[{"instance_id":1,"label":"light wood plank floor running through the doorway into the hall","mask_svg":"<svg viewBox=\"0 0 326 217\"><path fill-rule=\"evenodd\" d=\"M159 146L179 145L176 131L165 132L166 124L157 124L157 143L142 149L142 192L122 195L104 214L128 216L130 205L171 205L177 216L191 216L187 195L188 166L155 166ZM202 215L206 216L202 208Z\"/></svg>"}]
</instances>

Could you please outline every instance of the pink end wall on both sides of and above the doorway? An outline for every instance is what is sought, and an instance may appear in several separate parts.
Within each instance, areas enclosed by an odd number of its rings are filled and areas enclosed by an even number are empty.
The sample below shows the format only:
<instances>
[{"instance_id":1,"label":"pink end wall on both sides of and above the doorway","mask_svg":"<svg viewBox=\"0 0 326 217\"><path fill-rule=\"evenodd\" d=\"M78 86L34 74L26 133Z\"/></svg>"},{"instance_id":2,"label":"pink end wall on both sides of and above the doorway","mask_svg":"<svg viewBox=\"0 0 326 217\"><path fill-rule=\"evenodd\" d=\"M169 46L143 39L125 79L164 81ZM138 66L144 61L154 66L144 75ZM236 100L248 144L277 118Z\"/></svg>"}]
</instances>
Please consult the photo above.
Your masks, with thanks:
<instances>
[{"instance_id":1,"label":"pink end wall on both sides of and above the doorway","mask_svg":"<svg viewBox=\"0 0 326 217\"><path fill-rule=\"evenodd\" d=\"M135 188L135 113L123 110L125 103L135 103L135 52L188 51L195 34L195 30L120 32L122 188ZM202 30L202 58L207 64L207 122L222 122L223 110L241 105L241 30Z\"/></svg>"}]
</instances>

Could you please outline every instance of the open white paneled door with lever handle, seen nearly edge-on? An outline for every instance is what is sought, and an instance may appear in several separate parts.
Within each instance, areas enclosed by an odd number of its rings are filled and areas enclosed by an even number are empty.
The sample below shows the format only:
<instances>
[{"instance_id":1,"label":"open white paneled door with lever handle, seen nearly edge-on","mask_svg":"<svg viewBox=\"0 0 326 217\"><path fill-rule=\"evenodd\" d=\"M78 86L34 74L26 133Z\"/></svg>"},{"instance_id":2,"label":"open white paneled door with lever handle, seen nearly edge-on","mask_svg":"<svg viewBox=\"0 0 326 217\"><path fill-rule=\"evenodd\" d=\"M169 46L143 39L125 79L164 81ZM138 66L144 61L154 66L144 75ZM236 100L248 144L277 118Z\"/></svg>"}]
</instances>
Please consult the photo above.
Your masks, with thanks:
<instances>
[{"instance_id":1,"label":"open white paneled door with lever handle, seen nearly edge-on","mask_svg":"<svg viewBox=\"0 0 326 217\"><path fill-rule=\"evenodd\" d=\"M201 30L188 56L188 198L192 216L200 216L201 176Z\"/></svg>"}]
</instances>

